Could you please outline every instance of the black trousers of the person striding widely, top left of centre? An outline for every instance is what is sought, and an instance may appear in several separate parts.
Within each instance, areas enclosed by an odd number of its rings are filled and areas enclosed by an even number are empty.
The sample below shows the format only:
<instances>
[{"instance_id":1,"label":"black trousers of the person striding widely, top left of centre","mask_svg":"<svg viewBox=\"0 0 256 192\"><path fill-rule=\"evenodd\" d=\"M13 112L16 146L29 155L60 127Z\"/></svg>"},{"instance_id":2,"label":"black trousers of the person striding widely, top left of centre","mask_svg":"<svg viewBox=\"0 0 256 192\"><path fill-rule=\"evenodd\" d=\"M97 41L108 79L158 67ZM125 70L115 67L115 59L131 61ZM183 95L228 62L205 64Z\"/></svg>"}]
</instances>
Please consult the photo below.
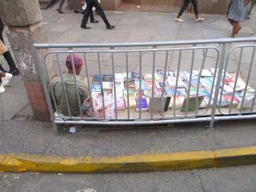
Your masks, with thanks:
<instances>
[{"instance_id":1,"label":"black trousers of the person striding widely, top left of centre","mask_svg":"<svg viewBox=\"0 0 256 192\"><path fill-rule=\"evenodd\" d=\"M83 14L83 20L81 23L81 27L86 26L87 22L88 22L88 18L90 16L90 14L92 13L92 8L95 7L96 11L98 12L98 14L100 15L100 17L102 17L102 20L104 21L104 23L106 24L106 27L109 27L109 21L106 19L106 15L102 9L102 6L99 4L98 0L87 0L87 7L84 11Z\"/></svg>"}]
</instances>

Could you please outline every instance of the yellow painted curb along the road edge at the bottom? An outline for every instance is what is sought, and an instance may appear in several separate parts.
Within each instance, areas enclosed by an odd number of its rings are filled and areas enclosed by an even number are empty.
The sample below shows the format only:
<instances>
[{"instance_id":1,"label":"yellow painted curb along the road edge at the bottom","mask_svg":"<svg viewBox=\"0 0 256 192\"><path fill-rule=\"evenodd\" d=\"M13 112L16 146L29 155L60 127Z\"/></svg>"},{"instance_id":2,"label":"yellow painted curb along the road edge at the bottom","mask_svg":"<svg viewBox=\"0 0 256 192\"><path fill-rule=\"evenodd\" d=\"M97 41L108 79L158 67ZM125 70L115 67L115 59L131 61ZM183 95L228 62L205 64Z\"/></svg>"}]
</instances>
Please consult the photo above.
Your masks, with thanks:
<instances>
[{"instance_id":1,"label":"yellow painted curb along the road edge at the bottom","mask_svg":"<svg viewBox=\"0 0 256 192\"><path fill-rule=\"evenodd\" d=\"M135 154L118 157L58 157L0 154L1 172L154 172L255 164L256 146L213 151Z\"/></svg>"}]
</instances>

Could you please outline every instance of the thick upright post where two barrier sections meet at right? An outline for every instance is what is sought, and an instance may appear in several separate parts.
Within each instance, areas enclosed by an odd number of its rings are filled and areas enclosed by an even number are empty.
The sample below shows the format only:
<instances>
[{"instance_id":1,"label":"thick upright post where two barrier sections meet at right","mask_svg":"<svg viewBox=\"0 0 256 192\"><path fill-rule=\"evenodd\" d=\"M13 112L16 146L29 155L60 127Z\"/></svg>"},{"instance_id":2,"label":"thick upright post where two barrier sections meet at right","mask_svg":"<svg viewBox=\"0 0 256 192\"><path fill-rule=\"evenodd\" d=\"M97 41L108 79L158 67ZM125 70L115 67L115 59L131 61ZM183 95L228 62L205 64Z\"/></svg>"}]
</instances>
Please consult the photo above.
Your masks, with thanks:
<instances>
[{"instance_id":1,"label":"thick upright post where two barrier sections meet at right","mask_svg":"<svg viewBox=\"0 0 256 192\"><path fill-rule=\"evenodd\" d=\"M214 120L215 120L215 114L216 114L216 108L217 108L217 99L219 96L219 91L220 91L220 87L221 87L221 76L222 76L222 71L223 71L223 67L224 67L224 61L226 58L226 51L227 51L227 43L224 42L222 45L222 49L221 49L221 59L220 59L220 65L217 71L217 83L216 83L216 87L215 87L215 93L214 93L214 101L213 101L213 107L212 107L212 113L211 113L211 120L210 120L210 124L209 124L209 128L213 129L213 124L214 124ZM214 83L214 82L213 82Z\"/></svg>"}]
</instances>

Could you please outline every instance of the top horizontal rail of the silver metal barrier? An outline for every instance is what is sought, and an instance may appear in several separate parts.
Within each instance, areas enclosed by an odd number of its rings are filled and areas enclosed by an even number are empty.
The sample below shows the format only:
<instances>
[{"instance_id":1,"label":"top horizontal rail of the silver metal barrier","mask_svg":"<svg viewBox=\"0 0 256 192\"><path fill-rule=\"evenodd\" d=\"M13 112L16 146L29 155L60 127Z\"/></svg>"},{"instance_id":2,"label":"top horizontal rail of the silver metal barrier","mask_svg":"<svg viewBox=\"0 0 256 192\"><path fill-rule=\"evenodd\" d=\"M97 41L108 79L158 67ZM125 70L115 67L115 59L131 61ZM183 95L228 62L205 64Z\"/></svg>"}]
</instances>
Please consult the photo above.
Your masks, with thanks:
<instances>
[{"instance_id":1,"label":"top horizontal rail of the silver metal barrier","mask_svg":"<svg viewBox=\"0 0 256 192\"><path fill-rule=\"evenodd\" d=\"M178 46L191 44L211 44L211 43L234 43L234 42L256 42L256 37L252 38L225 38L225 39L195 39L182 41L165 42L126 42L126 43L34 43L38 49L46 48L90 48L90 47L124 47L124 46Z\"/></svg>"}]
</instances>

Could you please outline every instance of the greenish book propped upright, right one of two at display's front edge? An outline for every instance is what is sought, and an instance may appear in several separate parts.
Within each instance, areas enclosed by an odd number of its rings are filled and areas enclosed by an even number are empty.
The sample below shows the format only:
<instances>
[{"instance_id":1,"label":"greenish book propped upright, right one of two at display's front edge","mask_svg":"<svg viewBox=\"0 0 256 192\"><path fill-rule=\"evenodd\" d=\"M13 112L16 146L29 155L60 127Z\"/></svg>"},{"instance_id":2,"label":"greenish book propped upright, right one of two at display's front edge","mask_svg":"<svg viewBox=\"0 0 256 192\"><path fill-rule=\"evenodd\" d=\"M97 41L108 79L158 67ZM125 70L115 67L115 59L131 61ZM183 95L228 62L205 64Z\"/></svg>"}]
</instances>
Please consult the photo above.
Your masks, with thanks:
<instances>
[{"instance_id":1,"label":"greenish book propped upright, right one of two at display's front edge","mask_svg":"<svg viewBox=\"0 0 256 192\"><path fill-rule=\"evenodd\" d=\"M196 111L196 109L200 108L203 98L204 98L203 95L199 95L198 97L190 96L189 98L185 98L180 111L181 112ZM187 102L188 102L188 105L187 105Z\"/></svg>"}]
</instances>

